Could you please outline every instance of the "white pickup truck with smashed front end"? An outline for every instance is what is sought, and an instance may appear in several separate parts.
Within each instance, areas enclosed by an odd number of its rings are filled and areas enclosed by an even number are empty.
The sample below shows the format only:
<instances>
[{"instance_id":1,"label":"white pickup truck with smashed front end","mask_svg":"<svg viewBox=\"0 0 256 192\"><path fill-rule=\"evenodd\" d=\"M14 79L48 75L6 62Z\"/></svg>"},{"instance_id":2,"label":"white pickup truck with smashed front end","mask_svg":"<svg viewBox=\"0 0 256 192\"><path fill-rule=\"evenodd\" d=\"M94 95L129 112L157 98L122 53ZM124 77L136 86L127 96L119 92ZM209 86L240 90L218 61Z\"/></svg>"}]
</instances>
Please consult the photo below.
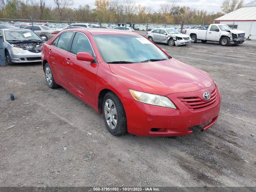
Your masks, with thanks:
<instances>
[{"instance_id":1,"label":"white pickup truck with smashed front end","mask_svg":"<svg viewBox=\"0 0 256 192\"><path fill-rule=\"evenodd\" d=\"M230 29L224 24L211 24L208 29L186 29L185 33L191 37L192 43L216 41L227 46L242 44L245 40L244 31Z\"/></svg>"}]
</instances>

